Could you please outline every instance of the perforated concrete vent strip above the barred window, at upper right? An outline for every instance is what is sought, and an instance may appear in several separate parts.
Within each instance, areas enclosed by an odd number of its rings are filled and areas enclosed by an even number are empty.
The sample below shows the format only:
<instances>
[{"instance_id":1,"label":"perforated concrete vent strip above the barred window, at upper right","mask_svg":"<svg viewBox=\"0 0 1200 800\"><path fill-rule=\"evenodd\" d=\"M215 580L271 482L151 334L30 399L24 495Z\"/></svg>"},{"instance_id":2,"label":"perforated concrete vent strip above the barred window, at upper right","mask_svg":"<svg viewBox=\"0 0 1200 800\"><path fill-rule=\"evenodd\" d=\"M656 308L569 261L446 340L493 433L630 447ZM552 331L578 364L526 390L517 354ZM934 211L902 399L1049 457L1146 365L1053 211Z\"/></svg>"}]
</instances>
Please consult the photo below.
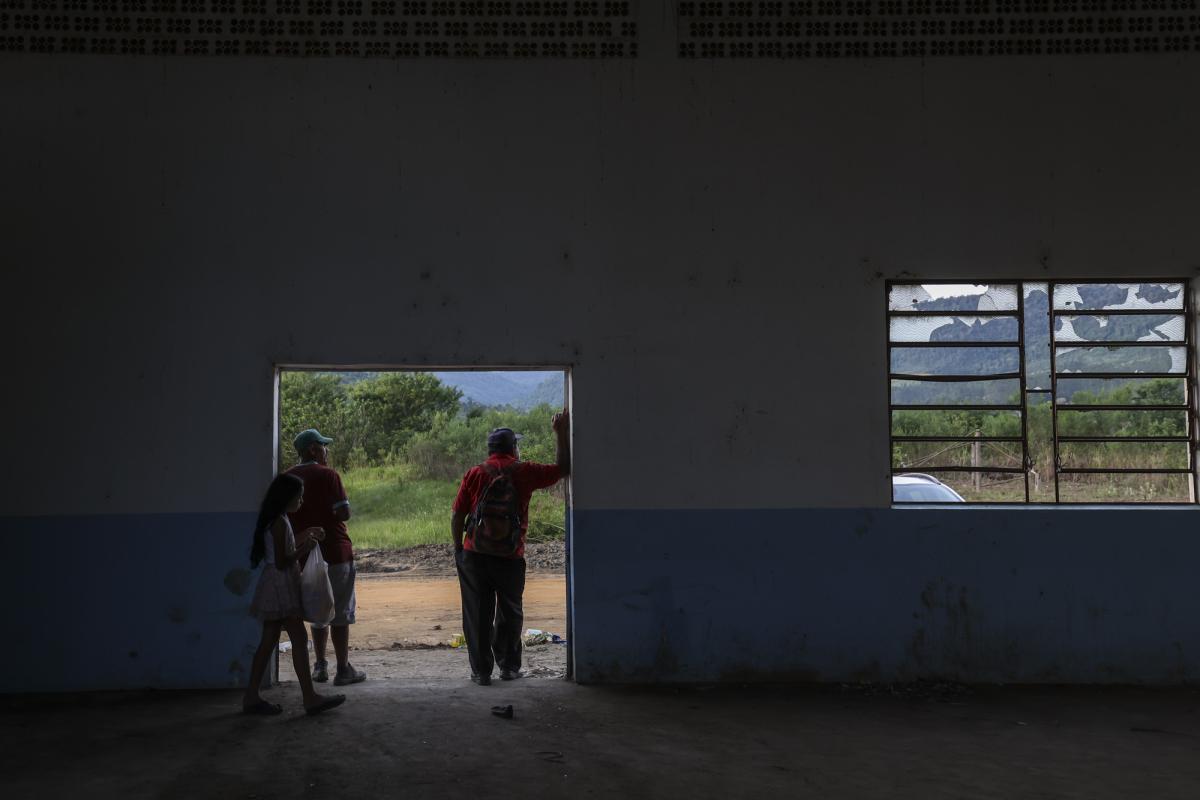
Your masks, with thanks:
<instances>
[{"instance_id":1,"label":"perforated concrete vent strip above the barred window, at upper right","mask_svg":"<svg viewBox=\"0 0 1200 800\"><path fill-rule=\"evenodd\" d=\"M1181 53L1196 0L738 0L678 4L685 59Z\"/></svg>"}]
</instances>

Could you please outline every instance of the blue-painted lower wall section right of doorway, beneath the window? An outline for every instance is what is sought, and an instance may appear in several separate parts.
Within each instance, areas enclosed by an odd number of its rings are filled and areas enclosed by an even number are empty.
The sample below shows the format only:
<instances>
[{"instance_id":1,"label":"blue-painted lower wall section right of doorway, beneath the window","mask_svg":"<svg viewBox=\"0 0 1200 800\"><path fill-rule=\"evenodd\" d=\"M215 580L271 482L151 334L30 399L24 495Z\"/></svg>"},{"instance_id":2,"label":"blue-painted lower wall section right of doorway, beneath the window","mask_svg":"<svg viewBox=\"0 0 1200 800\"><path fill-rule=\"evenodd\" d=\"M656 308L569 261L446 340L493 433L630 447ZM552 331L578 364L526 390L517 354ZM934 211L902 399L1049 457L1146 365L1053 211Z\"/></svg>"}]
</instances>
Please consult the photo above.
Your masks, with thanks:
<instances>
[{"instance_id":1,"label":"blue-painted lower wall section right of doorway, beneath the window","mask_svg":"<svg viewBox=\"0 0 1200 800\"><path fill-rule=\"evenodd\" d=\"M1200 679L1194 509L574 516L582 682Z\"/></svg>"}]
</instances>

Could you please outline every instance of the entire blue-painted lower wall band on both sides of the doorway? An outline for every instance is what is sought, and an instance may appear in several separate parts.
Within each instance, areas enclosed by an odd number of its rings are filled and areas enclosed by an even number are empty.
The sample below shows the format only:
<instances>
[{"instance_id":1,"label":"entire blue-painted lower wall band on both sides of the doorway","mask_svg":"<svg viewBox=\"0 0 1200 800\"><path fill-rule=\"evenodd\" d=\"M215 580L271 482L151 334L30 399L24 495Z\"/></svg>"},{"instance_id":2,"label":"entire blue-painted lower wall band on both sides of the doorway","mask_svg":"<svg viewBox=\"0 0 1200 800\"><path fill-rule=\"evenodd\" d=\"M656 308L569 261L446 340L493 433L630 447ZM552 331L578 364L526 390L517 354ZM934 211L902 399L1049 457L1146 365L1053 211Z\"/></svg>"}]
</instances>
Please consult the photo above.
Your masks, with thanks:
<instances>
[{"instance_id":1,"label":"entire blue-painted lower wall band on both sides of the doorway","mask_svg":"<svg viewBox=\"0 0 1200 800\"><path fill-rule=\"evenodd\" d=\"M1196 510L586 511L583 682L1200 680ZM4 691L245 684L253 515L5 518Z\"/></svg>"}]
</instances>

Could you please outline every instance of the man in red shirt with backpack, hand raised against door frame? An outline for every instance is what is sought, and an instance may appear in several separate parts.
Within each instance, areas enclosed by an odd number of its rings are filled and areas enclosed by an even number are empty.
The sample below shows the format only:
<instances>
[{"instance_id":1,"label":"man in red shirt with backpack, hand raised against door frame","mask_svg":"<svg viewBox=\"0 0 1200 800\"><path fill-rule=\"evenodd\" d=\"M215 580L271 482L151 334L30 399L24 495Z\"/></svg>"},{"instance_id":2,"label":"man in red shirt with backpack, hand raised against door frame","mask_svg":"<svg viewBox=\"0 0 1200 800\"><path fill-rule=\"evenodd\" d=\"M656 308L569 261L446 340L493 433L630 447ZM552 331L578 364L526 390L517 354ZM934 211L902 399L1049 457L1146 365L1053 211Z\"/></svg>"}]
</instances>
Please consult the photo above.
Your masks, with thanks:
<instances>
[{"instance_id":1,"label":"man in red shirt with backpack, hand raised against door frame","mask_svg":"<svg viewBox=\"0 0 1200 800\"><path fill-rule=\"evenodd\" d=\"M571 473L569 417L551 420L558 445L554 464L521 461L511 428L487 434L487 461L467 470L450 518L455 564L462 591L462 628L470 657L470 679L492 682L493 664L502 680L521 678L524 625L526 533L529 498Z\"/></svg>"}]
</instances>

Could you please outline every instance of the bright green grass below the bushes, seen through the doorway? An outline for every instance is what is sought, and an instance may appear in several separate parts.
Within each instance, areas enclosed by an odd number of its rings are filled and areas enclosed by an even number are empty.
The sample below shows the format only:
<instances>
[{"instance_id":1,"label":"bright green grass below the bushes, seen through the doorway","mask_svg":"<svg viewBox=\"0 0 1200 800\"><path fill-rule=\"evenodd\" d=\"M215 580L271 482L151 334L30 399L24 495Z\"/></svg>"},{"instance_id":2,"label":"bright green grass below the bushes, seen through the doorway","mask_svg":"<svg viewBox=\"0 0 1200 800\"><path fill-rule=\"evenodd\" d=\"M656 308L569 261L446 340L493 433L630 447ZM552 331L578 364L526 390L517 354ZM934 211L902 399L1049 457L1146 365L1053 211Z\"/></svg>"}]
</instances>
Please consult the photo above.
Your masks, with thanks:
<instances>
[{"instance_id":1,"label":"bright green grass below the bushes, seen through the doorway","mask_svg":"<svg viewBox=\"0 0 1200 800\"><path fill-rule=\"evenodd\" d=\"M414 477L412 467L366 467L342 473L354 516L349 530L361 549L403 549L450 541L457 481ZM529 503L529 539L563 537L565 505L548 491Z\"/></svg>"}]
</instances>

